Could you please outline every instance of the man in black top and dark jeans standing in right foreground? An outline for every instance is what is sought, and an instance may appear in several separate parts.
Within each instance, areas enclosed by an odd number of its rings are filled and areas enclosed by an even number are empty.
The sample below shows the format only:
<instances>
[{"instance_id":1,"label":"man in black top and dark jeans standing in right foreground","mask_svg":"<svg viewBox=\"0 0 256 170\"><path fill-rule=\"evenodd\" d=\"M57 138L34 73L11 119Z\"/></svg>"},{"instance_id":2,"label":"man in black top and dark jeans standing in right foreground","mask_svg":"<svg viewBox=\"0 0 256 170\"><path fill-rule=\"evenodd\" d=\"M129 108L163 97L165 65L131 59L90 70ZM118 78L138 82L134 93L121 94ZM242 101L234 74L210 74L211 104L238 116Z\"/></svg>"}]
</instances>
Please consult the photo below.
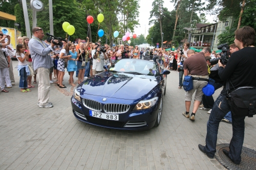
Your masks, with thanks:
<instances>
[{"instance_id":1,"label":"man in black top and dark jeans standing in right foreground","mask_svg":"<svg viewBox=\"0 0 256 170\"><path fill-rule=\"evenodd\" d=\"M219 76L221 80L229 82L230 91L241 86L255 86L256 84L255 31L253 28L245 26L236 30L234 34L234 43L240 50L231 55L225 67L220 60L218 63L220 66L218 70ZM213 158L216 153L219 124L229 110L230 105L228 104L226 86L224 86L209 116L206 145L198 145L199 149L210 158ZM233 163L240 164L244 142L245 116L234 116L234 114L238 113L232 113L233 134L229 144L229 151L224 149L223 153Z\"/></svg>"}]
</instances>

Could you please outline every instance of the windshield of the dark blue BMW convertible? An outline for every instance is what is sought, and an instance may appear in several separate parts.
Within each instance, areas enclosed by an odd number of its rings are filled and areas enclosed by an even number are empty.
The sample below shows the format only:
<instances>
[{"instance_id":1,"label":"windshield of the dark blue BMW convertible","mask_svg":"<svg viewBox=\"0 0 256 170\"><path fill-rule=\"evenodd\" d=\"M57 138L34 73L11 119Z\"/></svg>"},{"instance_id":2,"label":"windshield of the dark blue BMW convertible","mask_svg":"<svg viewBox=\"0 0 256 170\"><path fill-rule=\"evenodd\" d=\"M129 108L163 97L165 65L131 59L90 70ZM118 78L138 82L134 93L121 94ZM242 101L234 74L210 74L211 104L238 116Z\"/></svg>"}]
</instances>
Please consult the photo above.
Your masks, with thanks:
<instances>
[{"instance_id":1,"label":"windshield of the dark blue BMW convertible","mask_svg":"<svg viewBox=\"0 0 256 170\"><path fill-rule=\"evenodd\" d=\"M130 74L143 74L148 76L159 76L157 63L138 59L117 60L109 71L127 72Z\"/></svg>"}]
</instances>

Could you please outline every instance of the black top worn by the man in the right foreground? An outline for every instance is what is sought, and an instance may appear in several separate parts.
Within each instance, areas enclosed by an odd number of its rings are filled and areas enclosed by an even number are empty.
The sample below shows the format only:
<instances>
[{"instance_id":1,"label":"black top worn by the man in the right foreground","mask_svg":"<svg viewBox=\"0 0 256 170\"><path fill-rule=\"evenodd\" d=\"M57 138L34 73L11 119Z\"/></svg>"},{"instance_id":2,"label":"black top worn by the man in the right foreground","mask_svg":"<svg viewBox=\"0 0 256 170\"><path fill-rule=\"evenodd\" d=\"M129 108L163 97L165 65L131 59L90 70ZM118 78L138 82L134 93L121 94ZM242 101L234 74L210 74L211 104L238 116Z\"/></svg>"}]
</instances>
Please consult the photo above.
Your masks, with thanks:
<instances>
[{"instance_id":1,"label":"black top worn by the man in the right foreground","mask_svg":"<svg viewBox=\"0 0 256 170\"><path fill-rule=\"evenodd\" d=\"M219 68L221 80L230 80L234 88L256 86L256 47L244 47L232 53L225 68ZM233 86L229 83L230 90ZM226 95L226 83L221 94Z\"/></svg>"}]
</instances>

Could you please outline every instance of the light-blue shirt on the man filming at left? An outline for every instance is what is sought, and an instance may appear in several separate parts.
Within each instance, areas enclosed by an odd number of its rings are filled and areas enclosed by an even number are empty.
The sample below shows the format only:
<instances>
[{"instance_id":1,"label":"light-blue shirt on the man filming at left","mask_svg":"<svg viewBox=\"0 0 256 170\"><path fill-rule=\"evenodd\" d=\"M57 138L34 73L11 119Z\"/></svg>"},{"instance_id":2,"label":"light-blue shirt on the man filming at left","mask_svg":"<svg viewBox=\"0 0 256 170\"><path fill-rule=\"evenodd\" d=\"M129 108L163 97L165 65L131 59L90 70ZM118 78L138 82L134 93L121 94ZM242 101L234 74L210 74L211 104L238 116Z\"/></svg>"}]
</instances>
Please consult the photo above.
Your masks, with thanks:
<instances>
[{"instance_id":1,"label":"light-blue shirt on the man filming at left","mask_svg":"<svg viewBox=\"0 0 256 170\"><path fill-rule=\"evenodd\" d=\"M32 36L29 40L29 51L33 61L34 70L40 67L53 67L53 62L50 56L50 53L53 51L51 45Z\"/></svg>"}]
</instances>

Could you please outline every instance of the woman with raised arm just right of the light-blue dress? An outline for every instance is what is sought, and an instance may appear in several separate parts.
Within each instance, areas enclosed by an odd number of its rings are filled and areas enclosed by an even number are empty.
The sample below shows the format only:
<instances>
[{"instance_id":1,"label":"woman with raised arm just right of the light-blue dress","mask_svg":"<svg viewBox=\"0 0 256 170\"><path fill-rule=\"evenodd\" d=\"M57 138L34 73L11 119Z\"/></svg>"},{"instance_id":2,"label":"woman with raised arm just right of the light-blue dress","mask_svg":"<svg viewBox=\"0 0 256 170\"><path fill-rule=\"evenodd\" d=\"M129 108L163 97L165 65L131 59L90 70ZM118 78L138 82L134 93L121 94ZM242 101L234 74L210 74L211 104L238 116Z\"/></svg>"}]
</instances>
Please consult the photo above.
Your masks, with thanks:
<instances>
[{"instance_id":1,"label":"woman with raised arm just right of the light-blue dress","mask_svg":"<svg viewBox=\"0 0 256 170\"><path fill-rule=\"evenodd\" d=\"M89 51L87 50L87 46L89 44L89 37L87 37L87 43L84 45L82 42L80 42L79 46L80 48L76 51L77 52L77 68L79 70L78 72L78 84L80 84L83 81L84 72L86 72L86 63L88 62L88 56ZM82 61L85 61L86 63L84 66L82 66Z\"/></svg>"}]
</instances>

